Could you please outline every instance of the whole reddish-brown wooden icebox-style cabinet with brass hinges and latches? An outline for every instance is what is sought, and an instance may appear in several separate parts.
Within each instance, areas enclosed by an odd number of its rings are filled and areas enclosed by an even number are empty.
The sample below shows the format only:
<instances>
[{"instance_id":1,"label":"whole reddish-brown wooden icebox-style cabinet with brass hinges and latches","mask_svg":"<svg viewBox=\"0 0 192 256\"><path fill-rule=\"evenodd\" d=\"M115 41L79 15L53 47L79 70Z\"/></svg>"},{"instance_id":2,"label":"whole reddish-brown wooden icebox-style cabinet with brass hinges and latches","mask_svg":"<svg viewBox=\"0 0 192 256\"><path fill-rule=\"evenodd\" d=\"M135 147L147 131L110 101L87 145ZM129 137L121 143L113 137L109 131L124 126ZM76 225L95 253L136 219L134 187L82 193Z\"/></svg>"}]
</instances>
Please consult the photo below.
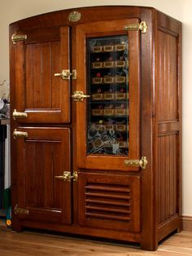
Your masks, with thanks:
<instances>
[{"instance_id":1,"label":"whole reddish-brown wooden icebox-style cabinet with brass hinges and latches","mask_svg":"<svg viewBox=\"0 0 192 256\"><path fill-rule=\"evenodd\" d=\"M12 228L149 250L181 230L181 23L55 11L11 24L10 55Z\"/></svg>"}]
</instances>

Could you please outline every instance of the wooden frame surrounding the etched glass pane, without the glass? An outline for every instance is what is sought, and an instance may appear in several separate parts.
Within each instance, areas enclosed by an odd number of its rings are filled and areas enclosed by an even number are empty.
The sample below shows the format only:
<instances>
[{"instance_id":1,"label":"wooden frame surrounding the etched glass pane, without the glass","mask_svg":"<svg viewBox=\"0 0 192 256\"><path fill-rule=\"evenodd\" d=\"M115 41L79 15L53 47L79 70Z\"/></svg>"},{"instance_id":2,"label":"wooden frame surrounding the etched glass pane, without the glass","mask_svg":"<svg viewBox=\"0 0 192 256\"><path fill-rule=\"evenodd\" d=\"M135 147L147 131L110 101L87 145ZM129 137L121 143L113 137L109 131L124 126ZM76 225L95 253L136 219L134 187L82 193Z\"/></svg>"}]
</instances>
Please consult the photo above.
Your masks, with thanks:
<instances>
[{"instance_id":1,"label":"wooden frame surrounding the etched glass pane, without the glass","mask_svg":"<svg viewBox=\"0 0 192 256\"><path fill-rule=\"evenodd\" d=\"M94 104L94 102L89 103L89 99L93 99L93 95L90 95L89 98L84 99L81 102L76 102L76 123L77 123L77 129L76 129L76 155L77 155L77 165L79 168L85 168L85 169L93 169L93 166L97 166L98 170L133 170L137 171L140 170L139 167L133 167L133 166L125 166L124 160L127 159L141 159L141 126L140 126L140 32L137 31L124 31L124 25L130 24L130 23L137 23L137 19L130 19L130 20L116 20L116 21L104 21L104 22L95 22L95 23L89 23L89 24L80 24L76 27L76 42L78 44L77 52L78 55L76 56L76 73L77 73L77 90L83 91L85 95L89 95L89 86L97 86L97 82L92 84L92 79L89 77L89 70L87 69L87 66L91 66L91 64L97 64L97 59L100 59L100 64L102 69L101 72L105 69L106 65L106 59L105 59L105 50L106 46L98 46L95 48L95 51L100 51L99 58L94 58L93 63L89 64L88 57L86 56L87 51L85 51L85 42L89 42L89 38L105 38L105 37L117 37L117 36L125 36L128 38L129 42L129 68L127 68L127 72L129 70L129 77L126 78L128 80L129 84L129 109L127 112L125 111L124 116L127 116L129 119L129 125L126 124L125 126L128 127L129 130L129 153L121 154L121 155L110 155L106 153L89 153L87 148L89 144L88 138L88 127L89 127L89 113L91 116L91 112L88 113L90 104ZM109 49L110 49L110 42ZM118 47L118 45L112 46L113 49L115 47ZM107 48L107 47L106 47ZM104 50L103 50L104 49ZM114 51L114 50L113 50ZM118 51L118 50L117 50ZM103 55L104 57L103 57ZM90 57L91 59L92 57ZM103 60L101 60L103 58ZM114 60L113 60L114 61ZM115 59L116 62L116 59ZM103 68L104 65L104 68ZM112 65L116 65L112 63ZM96 70L96 69L95 69ZM99 69L98 69L99 70ZM100 72L100 70L99 70ZM100 76L98 72L98 75ZM112 71L113 72L113 71ZM105 75L107 74L107 68L106 71L103 72L104 77L99 78L103 79L101 81L105 81ZM97 74L96 74L97 76ZM107 75L108 76L108 75ZM97 79L97 78L96 78ZM116 77L112 77L113 81L116 79ZM90 82L89 82L90 81ZM96 81L96 80L95 80ZM98 82L99 83L99 82ZM99 91L105 92L105 85L110 84L110 82L100 82L101 86L99 87ZM118 84L117 84L118 86ZM117 87L116 86L116 87ZM116 90L116 89L115 89ZM97 93L97 90L95 90ZM106 95L101 95L106 96ZM111 97L116 97L116 91ZM99 99L100 100L100 99ZM96 100L95 100L96 102ZM98 103L103 104L104 100L100 100ZM111 102L111 104L114 104ZM103 106L102 106L103 107ZM104 107L105 108L105 107ZM105 115L105 109L99 110L101 114L98 114L101 116L100 119L103 119L103 116ZM116 109L112 109L113 112L111 112L111 115L114 115L116 112ZM85 113L85 115L82 113ZM103 114L104 113L104 114ZM95 114L96 116L97 114ZM107 113L107 115L109 115ZM99 124L95 123L96 126ZM103 122L103 120L101 120ZM91 121L90 121L91 124ZM108 125L108 124L107 124ZM105 123L104 123L104 127ZM111 125L112 130L116 130L116 123L115 125L112 123ZM106 128L107 130L108 128ZM82 132L83 130L83 132ZM99 131L98 131L99 133ZM96 137L96 136L95 136ZM98 141L95 141L95 144L100 142L98 138ZM104 144L103 140L103 144ZM126 142L127 143L127 142Z\"/></svg>"}]
</instances>

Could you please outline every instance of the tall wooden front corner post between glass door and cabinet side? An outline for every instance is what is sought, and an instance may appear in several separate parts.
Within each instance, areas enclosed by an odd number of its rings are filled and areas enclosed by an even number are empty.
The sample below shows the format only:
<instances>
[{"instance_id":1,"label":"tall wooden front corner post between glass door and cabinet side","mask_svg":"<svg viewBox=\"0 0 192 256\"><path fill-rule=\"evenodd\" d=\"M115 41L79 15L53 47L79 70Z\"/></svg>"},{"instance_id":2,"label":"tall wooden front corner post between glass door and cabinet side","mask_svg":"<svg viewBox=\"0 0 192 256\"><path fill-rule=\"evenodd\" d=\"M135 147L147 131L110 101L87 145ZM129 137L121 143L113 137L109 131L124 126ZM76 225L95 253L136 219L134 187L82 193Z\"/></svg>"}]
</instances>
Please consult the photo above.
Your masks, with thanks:
<instances>
[{"instance_id":1,"label":"tall wooden front corner post between glass door and cabinet side","mask_svg":"<svg viewBox=\"0 0 192 256\"><path fill-rule=\"evenodd\" d=\"M146 250L158 248L157 225L155 216L155 9L141 12L140 19L146 20L147 33L141 34L141 126L142 152L148 160L142 172L142 241L141 247Z\"/></svg>"}]
</instances>

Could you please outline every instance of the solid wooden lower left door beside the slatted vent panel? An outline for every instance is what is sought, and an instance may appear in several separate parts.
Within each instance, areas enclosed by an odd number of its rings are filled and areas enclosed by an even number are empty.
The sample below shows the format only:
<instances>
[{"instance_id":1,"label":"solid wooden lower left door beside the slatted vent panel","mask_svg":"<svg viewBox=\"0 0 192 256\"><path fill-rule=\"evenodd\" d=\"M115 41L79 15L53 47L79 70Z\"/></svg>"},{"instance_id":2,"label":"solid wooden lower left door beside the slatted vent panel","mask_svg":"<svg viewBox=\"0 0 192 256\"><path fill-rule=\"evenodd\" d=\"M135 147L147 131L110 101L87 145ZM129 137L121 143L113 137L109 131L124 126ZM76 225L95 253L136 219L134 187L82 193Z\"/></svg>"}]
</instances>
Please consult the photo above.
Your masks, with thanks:
<instances>
[{"instance_id":1,"label":"solid wooden lower left door beside the slatted vent panel","mask_svg":"<svg viewBox=\"0 0 192 256\"><path fill-rule=\"evenodd\" d=\"M71 223L71 182L58 179L71 170L68 128L24 128L27 138L15 138L13 193L19 218ZM20 212L28 211L28 214Z\"/></svg>"}]
</instances>

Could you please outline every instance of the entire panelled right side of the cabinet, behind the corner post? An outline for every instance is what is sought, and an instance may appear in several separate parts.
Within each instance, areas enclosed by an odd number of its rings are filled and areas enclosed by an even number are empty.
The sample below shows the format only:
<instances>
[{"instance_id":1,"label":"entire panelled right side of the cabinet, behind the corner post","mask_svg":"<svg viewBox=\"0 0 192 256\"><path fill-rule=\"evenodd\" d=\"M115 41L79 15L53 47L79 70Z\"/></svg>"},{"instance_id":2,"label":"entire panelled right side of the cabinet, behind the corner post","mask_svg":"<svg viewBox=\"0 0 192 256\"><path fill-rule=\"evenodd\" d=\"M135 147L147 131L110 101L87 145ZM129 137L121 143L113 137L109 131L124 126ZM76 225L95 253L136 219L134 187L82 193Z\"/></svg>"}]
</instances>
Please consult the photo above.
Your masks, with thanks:
<instances>
[{"instance_id":1,"label":"entire panelled right side of the cabinet, behind the corner post","mask_svg":"<svg viewBox=\"0 0 192 256\"><path fill-rule=\"evenodd\" d=\"M179 214L180 196L180 83L179 34L159 27L156 44L157 223Z\"/></svg>"}]
</instances>

